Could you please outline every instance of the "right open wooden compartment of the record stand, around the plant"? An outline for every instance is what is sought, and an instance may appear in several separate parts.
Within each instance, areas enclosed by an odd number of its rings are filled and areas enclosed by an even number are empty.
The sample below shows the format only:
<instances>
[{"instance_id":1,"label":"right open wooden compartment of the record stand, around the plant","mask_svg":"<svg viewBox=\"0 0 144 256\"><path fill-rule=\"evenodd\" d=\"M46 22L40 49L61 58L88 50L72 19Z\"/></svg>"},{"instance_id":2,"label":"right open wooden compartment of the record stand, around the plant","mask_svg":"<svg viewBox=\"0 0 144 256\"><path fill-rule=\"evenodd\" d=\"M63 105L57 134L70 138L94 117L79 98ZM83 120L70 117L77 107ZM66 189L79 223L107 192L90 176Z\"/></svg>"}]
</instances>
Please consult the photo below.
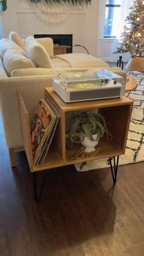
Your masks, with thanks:
<instances>
[{"instance_id":1,"label":"right open wooden compartment of the record stand, around the plant","mask_svg":"<svg viewBox=\"0 0 144 256\"><path fill-rule=\"evenodd\" d=\"M129 122L131 120L132 100L126 97L121 97L110 98L107 100L64 103L51 87L45 89L45 97L48 98L60 114L59 130L55 136L55 145L59 148L59 155L60 158L63 159L63 165L124 154L128 137ZM67 150L66 148L65 134L68 125L66 118L67 113L87 111L89 109L98 109L98 112L104 116L106 123L108 124L109 132L112 134L112 139L109 138L107 141L107 138L103 137L103 139L99 141L98 147L100 147L100 150L96 156L71 160L81 145L75 144L71 150Z\"/></svg>"}]
</instances>

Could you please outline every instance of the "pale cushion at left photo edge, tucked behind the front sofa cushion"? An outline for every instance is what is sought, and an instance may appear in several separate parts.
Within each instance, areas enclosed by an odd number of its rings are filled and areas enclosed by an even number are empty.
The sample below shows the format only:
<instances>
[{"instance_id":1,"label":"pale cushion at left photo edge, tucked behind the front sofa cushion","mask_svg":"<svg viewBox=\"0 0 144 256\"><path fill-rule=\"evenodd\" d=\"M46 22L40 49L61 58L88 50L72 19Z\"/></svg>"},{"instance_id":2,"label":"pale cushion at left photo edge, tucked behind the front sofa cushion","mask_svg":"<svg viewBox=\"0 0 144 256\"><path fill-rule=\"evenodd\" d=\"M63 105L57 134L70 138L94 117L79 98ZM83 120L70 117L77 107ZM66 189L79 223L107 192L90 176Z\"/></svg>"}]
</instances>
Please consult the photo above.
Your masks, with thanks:
<instances>
[{"instance_id":1,"label":"pale cushion at left photo edge, tucked behind the front sofa cushion","mask_svg":"<svg viewBox=\"0 0 144 256\"><path fill-rule=\"evenodd\" d=\"M16 45L16 43L10 40L9 38L2 38L0 40L0 56L2 59L7 49L20 49L20 47Z\"/></svg>"}]
</instances>

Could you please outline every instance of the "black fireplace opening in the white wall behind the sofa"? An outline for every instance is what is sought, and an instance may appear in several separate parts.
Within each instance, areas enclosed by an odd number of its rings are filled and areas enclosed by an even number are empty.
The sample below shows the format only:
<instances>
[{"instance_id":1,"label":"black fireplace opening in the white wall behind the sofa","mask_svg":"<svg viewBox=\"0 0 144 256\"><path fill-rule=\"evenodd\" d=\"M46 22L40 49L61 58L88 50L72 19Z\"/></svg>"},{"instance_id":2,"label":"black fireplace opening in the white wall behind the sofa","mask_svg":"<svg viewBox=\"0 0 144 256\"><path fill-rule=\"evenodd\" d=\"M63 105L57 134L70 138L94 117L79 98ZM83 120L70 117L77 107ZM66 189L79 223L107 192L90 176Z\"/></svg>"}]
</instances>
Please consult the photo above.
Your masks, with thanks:
<instances>
[{"instance_id":1,"label":"black fireplace opening in the white wall behind the sofa","mask_svg":"<svg viewBox=\"0 0 144 256\"><path fill-rule=\"evenodd\" d=\"M69 45L70 49L67 49L67 53L72 53L73 46L73 35L72 34L35 34L34 38L51 37L54 45Z\"/></svg>"}]
</instances>

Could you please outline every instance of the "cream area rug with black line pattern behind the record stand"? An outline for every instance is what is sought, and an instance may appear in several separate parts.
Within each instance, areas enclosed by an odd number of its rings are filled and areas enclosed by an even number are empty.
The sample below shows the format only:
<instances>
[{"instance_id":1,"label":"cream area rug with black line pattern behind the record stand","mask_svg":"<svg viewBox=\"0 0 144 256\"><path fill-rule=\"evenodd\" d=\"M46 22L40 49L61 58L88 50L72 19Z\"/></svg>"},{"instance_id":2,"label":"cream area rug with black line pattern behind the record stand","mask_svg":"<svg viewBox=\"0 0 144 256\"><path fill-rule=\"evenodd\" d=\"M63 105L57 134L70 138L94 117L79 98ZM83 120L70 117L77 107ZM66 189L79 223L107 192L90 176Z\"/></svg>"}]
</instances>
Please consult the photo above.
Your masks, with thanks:
<instances>
[{"instance_id":1,"label":"cream area rug with black line pattern behind the record stand","mask_svg":"<svg viewBox=\"0 0 144 256\"><path fill-rule=\"evenodd\" d=\"M129 75L137 81L135 90L126 92L126 97L134 100L131 122L129 126L126 152L120 156L119 165L132 164L144 161L144 74L132 71ZM110 167L109 159L103 158L87 161L84 164L75 164L77 171L87 171Z\"/></svg>"}]
</instances>

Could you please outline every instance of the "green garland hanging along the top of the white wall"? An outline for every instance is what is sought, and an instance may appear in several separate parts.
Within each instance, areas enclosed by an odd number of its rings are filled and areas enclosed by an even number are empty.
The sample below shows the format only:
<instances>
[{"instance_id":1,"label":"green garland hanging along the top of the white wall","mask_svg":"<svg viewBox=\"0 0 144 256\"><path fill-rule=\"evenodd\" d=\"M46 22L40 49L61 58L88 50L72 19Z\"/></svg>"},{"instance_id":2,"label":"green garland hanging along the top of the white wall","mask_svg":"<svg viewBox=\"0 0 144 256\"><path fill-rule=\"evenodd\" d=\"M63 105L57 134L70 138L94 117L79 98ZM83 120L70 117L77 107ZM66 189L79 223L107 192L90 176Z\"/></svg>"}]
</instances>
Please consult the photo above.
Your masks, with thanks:
<instances>
[{"instance_id":1,"label":"green garland hanging along the top of the white wall","mask_svg":"<svg viewBox=\"0 0 144 256\"><path fill-rule=\"evenodd\" d=\"M47 4L62 4L68 3L72 5L82 5L82 4L91 4L92 0L29 0L34 4L45 1Z\"/></svg>"}]
</instances>

